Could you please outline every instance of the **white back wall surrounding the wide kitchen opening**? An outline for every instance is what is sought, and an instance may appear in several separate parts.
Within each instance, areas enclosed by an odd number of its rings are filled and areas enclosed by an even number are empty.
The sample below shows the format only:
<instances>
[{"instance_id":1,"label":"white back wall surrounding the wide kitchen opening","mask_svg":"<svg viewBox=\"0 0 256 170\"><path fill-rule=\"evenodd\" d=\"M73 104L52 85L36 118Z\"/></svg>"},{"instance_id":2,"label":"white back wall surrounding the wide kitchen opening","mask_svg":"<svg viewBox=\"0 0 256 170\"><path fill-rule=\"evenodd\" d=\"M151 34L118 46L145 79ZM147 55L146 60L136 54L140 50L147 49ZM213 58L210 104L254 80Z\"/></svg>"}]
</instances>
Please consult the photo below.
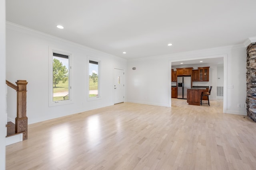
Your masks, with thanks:
<instances>
[{"instance_id":1,"label":"white back wall surrounding the wide kitchen opening","mask_svg":"<svg viewBox=\"0 0 256 170\"><path fill-rule=\"evenodd\" d=\"M226 57L227 60L224 60L226 113L246 115L245 107L237 107L237 104L245 104L246 100L246 47L243 45L130 60L127 63L127 79L129 80L127 101L170 106L171 62L216 57ZM132 67L137 67L137 70L132 70ZM211 84L216 87L217 73L215 69L217 66L210 68L212 72L215 72L210 75L212 77ZM234 88L227 88L232 85ZM214 90L216 91L216 88L213 89L213 93L216 94ZM146 96L150 96L150 98Z\"/></svg>"}]
</instances>

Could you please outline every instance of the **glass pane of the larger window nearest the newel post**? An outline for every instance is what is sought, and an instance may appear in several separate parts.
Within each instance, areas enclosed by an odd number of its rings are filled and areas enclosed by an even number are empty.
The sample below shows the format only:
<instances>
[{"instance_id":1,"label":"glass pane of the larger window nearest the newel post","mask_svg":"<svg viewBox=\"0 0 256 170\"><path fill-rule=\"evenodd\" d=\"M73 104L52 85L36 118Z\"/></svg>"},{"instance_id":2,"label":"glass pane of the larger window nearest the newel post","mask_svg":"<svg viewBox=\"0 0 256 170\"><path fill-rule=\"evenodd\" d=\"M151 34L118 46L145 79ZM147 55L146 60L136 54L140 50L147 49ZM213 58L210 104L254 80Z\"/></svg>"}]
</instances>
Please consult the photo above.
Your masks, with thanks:
<instances>
[{"instance_id":1,"label":"glass pane of the larger window nearest the newel post","mask_svg":"<svg viewBox=\"0 0 256 170\"><path fill-rule=\"evenodd\" d=\"M52 101L69 100L69 56L53 53Z\"/></svg>"}]
</instances>

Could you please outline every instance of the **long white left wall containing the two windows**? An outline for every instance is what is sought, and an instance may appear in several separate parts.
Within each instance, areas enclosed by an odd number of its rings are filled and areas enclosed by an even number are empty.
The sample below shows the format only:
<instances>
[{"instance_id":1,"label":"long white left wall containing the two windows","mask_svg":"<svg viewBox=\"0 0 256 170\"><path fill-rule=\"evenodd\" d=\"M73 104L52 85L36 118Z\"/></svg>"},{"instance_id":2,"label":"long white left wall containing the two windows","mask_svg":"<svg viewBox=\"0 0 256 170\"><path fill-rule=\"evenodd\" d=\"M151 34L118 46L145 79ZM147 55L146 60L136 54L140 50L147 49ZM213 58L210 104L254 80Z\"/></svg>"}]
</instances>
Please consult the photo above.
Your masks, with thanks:
<instances>
[{"instance_id":1,"label":"long white left wall containing the two windows","mask_svg":"<svg viewBox=\"0 0 256 170\"><path fill-rule=\"evenodd\" d=\"M73 104L48 106L49 46L72 52ZM87 57L100 60L100 100L87 101ZM113 68L126 60L12 23L6 24L6 79L27 80L28 123L113 105ZM16 117L16 92L8 88L8 119Z\"/></svg>"}]
</instances>

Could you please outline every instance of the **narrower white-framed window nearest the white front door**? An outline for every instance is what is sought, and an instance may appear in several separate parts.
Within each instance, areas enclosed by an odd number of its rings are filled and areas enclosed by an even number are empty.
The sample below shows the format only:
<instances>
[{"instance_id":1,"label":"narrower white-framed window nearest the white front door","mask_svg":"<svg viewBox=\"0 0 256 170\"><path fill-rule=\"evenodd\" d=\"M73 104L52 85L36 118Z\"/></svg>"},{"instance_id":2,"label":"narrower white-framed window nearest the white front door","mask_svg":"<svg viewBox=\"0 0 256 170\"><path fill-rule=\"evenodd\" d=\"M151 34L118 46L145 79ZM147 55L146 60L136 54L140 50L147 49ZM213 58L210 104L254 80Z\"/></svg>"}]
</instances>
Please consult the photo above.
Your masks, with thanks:
<instances>
[{"instance_id":1,"label":"narrower white-framed window nearest the white front door","mask_svg":"<svg viewBox=\"0 0 256 170\"><path fill-rule=\"evenodd\" d=\"M100 96L99 95L99 61L89 59L88 68L89 68L88 98L98 98Z\"/></svg>"}]
</instances>

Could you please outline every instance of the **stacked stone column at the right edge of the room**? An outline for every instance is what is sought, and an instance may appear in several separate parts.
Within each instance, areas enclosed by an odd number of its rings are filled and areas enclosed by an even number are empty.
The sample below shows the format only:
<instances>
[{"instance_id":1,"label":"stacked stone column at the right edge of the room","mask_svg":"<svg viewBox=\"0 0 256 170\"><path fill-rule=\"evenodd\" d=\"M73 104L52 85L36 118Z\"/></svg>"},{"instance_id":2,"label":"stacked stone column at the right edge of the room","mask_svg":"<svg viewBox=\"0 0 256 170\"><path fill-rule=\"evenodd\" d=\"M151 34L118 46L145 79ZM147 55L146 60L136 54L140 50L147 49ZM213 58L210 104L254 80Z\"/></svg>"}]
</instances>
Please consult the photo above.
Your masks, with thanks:
<instances>
[{"instance_id":1,"label":"stacked stone column at the right edge of the room","mask_svg":"<svg viewBox=\"0 0 256 170\"><path fill-rule=\"evenodd\" d=\"M256 43L251 43L247 47L246 62L247 116L256 121Z\"/></svg>"}]
</instances>

